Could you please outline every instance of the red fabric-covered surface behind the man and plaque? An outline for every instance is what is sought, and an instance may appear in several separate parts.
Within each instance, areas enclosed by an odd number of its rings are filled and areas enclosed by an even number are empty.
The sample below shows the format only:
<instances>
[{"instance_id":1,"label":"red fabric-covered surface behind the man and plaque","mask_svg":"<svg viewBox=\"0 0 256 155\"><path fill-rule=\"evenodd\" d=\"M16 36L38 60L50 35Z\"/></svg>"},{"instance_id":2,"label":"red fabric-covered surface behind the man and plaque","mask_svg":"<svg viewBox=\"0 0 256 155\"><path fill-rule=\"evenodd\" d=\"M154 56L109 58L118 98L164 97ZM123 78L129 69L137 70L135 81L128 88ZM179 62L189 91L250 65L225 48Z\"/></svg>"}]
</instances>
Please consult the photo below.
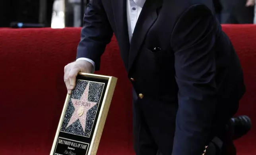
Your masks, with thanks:
<instances>
[{"instance_id":1,"label":"red fabric-covered surface behind the man and plaque","mask_svg":"<svg viewBox=\"0 0 256 155\"><path fill-rule=\"evenodd\" d=\"M256 26L224 25L244 69L246 95L238 114L256 121ZM73 61L80 28L0 29L0 155L48 155L66 89L63 68ZM97 74L118 83L98 155L134 155L131 84L115 38ZM256 155L256 127L236 142L238 155Z\"/></svg>"}]
</instances>

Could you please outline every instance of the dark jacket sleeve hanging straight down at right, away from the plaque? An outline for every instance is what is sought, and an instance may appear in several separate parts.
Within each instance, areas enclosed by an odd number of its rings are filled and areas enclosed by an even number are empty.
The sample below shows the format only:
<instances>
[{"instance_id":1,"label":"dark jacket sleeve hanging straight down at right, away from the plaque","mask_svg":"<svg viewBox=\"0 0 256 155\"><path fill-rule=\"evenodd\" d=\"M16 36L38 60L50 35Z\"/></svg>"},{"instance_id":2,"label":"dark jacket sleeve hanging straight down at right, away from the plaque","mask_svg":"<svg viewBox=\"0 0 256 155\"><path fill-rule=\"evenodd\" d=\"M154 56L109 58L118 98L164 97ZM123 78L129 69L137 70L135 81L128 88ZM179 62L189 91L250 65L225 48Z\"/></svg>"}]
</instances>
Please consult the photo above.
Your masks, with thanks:
<instances>
[{"instance_id":1,"label":"dark jacket sleeve hanging straight down at right, away from the plaque","mask_svg":"<svg viewBox=\"0 0 256 155\"><path fill-rule=\"evenodd\" d=\"M173 29L178 111L173 155L202 155L211 140L216 107L215 17L202 4L190 6Z\"/></svg>"}]
</instances>

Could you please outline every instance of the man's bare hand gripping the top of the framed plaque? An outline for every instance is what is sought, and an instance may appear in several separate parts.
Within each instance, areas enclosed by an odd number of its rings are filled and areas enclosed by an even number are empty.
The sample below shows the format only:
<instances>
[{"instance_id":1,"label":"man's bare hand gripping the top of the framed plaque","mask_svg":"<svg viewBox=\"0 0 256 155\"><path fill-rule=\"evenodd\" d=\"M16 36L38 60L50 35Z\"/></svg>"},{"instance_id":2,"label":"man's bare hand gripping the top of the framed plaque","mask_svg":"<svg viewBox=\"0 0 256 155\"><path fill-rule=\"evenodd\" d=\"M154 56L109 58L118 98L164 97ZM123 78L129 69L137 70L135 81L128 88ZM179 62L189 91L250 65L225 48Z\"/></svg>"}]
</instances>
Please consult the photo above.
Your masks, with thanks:
<instances>
[{"instance_id":1,"label":"man's bare hand gripping the top of the framed plaque","mask_svg":"<svg viewBox=\"0 0 256 155\"><path fill-rule=\"evenodd\" d=\"M71 94L72 89L74 89L76 85L76 76L79 72L92 73L93 64L86 60L78 60L67 64L64 67L64 82L66 83L68 94Z\"/></svg>"}]
</instances>

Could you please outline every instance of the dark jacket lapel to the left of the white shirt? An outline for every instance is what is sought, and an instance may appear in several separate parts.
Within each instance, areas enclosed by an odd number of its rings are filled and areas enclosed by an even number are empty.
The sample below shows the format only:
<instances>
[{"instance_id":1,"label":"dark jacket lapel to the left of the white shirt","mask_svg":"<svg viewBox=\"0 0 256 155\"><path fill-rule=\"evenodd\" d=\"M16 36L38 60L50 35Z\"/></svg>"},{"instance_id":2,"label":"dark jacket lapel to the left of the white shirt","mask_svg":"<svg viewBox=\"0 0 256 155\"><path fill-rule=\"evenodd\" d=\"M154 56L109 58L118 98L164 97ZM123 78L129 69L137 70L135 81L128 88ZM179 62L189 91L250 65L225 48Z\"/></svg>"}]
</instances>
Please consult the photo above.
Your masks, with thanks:
<instances>
[{"instance_id":1,"label":"dark jacket lapel to the left of the white shirt","mask_svg":"<svg viewBox=\"0 0 256 155\"><path fill-rule=\"evenodd\" d=\"M116 38L120 43L121 57L124 61L126 69L128 69L128 57L130 49L130 41L128 34L126 0L111 0L114 13L114 21L116 23Z\"/></svg>"}]
</instances>

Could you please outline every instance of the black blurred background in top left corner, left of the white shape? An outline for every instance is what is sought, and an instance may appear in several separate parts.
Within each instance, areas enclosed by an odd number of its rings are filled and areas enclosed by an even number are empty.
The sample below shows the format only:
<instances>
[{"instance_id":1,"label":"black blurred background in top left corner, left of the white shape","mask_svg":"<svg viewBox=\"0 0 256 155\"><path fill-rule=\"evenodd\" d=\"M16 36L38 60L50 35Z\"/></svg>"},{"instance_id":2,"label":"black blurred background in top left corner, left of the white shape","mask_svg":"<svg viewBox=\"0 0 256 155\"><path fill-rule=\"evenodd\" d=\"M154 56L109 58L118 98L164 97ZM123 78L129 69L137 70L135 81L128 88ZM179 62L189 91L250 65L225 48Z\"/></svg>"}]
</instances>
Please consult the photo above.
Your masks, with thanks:
<instances>
[{"instance_id":1,"label":"black blurred background in top left corner, left of the white shape","mask_svg":"<svg viewBox=\"0 0 256 155\"><path fill-rule=\"evenodd\" d=\"M53 3L54 0L1 0L0 26L9 27L11 22L22 22L43 23L50 27Z\"/></svg>"}]
</instances>

